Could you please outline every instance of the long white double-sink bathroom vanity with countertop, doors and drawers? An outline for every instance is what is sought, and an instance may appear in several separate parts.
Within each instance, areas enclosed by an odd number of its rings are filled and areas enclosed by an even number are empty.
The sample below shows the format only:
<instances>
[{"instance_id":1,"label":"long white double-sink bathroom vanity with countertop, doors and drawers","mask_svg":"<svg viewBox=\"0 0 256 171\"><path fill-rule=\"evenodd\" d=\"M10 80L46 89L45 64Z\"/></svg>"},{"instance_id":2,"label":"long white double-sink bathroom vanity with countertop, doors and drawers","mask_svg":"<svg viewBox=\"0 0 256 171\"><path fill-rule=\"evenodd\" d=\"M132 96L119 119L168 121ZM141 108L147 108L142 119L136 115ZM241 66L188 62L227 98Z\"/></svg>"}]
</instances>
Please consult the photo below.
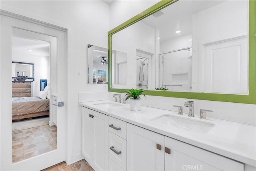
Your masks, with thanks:
<instances>
[{"instance_id":1,"label":"long white double-sink bathroom vanity with countertop, doors and drawers","mask_svg":"<svg viewBox=\"0 0 256 171\"><path fill-rule=\"evenodd\" d=\"M80 103L82 154L95 170L255 170L256 127L111 100Z\"/></svg>"}]
</instances>

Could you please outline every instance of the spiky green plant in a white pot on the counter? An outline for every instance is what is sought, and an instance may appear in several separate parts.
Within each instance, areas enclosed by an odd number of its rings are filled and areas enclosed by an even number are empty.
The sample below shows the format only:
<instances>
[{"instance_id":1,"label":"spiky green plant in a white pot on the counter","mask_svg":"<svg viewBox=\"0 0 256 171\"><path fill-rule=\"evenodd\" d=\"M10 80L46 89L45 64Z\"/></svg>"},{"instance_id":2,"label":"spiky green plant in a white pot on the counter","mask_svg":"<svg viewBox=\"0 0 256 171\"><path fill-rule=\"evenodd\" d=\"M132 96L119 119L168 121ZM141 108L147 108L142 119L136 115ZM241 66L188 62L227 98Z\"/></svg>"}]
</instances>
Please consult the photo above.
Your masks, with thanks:
<instances>
[{"instance_id":1,"label":"spiky green plant in a white pot on the counter","mask_svg":"<svg viewBox=\"0 0 256 171\"><path fill-rule=\"evenodd\" d=\"M144 95L146 98L146 95L143 93L143 89L128 89L127 91L124 91L126 94L126 99L130 99L130 110L132 111L139 111L141 110L141 100L140 95Z\"/></svg>"}]
</instances>

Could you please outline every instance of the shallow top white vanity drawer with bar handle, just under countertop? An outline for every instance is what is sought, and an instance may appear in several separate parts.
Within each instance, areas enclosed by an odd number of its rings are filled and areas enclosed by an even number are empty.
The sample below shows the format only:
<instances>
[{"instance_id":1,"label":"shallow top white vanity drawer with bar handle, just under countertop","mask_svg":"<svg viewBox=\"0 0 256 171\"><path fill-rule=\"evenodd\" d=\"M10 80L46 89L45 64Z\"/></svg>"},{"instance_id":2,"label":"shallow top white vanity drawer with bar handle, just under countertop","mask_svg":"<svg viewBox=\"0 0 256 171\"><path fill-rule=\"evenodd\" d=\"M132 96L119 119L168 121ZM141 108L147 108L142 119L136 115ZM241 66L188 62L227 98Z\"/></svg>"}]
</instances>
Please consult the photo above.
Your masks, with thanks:
<instances>
[{"instance_id":1,"label":"shallow top white vanity drawer with bar handle, just under countertop","mask_svg":"<svg viewBox=\"0 0 256 171\"><path fill-rule=\"evenodd\" d=\"M114 117L108 116L108 131L126 139L126 122Z\"/></svg>"}]
</instances>

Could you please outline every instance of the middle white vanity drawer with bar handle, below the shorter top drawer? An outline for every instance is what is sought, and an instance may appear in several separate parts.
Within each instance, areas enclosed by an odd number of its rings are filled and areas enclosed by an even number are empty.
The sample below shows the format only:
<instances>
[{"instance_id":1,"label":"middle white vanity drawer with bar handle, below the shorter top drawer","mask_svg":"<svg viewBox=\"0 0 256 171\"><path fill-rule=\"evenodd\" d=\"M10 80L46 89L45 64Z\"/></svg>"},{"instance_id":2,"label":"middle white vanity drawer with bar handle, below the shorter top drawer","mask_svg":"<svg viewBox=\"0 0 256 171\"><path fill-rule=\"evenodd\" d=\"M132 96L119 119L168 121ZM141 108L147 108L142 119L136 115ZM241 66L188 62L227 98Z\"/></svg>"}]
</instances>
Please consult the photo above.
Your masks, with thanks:
<instances>
[{"instance_id":1,"label":"middle white vanity drawer with bar handle, below the shorter top drawer","mask_svg":"<svg viewBox=\"0 0 256 171\"><path fill-rule=\"evenodd\" d=\"M108 131L108 157L126 170L126 140L110 131Z\"/></svg>"}]
</instances>

